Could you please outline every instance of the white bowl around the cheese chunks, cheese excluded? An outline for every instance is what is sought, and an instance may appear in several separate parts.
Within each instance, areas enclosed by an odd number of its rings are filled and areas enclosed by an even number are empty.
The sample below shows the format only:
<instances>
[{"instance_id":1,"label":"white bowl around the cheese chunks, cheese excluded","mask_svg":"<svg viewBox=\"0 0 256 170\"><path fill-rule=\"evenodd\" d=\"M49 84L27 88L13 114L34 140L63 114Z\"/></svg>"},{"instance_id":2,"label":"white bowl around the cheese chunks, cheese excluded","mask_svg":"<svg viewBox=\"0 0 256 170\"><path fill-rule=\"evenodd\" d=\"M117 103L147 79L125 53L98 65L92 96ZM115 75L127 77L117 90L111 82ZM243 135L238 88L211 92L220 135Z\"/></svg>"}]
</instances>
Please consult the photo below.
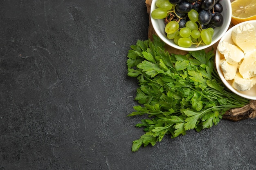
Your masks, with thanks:
<instances>
[{"instance_id":1,"label":"white bowl around the cheese chunks, cheese excluded","mask_svg":"<svg viewBox=\"0 0 256 170\"><path fill-rule=\"evenodd\" d=\"M246 22L249 22L251 24L253 24L256 28L256 20L252 20L252 21L246 21ZM231 32L234 28L240 26L241 24L244 24L246 22L242 22L240 24L237 24L233 27L231 27L231 29L229 29L227 31L227 33L225 33L225 35L223 35L223 37L220 39L220 42L222 41L225 41L225 42L229 42L231 44L234 44L236 45L232 38L231 38ZM229 88L232 92L236 93L237 95L241 96L241 97L244 97L246 99L251 99L251 100L256 100L256 85L254 85L249 91L238 91L236 90L235 88L233 88L231 86L232 84L232 80L230 81L227 81L222 73L222 70L220 68L220 60L221 59L224 59L224 56L218 51L218 49L216 50L216 55L215 55L215 64L216 64L216 69L217 69L217 72L220 76L220 79L222 80L222 82L225 84L225 86L227 86L227 88Z\"/></svg>"}]
</instances>

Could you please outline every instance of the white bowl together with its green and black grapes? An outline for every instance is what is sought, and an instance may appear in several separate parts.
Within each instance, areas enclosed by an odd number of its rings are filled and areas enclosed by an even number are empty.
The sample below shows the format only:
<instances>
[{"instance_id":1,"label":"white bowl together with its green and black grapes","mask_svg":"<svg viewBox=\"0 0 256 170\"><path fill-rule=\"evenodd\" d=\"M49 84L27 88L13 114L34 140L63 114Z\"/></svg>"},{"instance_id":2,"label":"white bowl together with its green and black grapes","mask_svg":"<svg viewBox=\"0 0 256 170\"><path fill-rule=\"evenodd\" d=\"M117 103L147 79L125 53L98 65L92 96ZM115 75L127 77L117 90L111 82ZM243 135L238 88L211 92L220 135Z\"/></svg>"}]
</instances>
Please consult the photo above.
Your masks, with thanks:
<instances>
[{"instance_id":1,"label":"white bowl together with its green and black grapes","mask_svg":"<svg viewBox=\"0 0 256 170\"><path fill-rule=\"evenodd\" d=\"M182 51L206 49L227 32L230 0L152 0L150 20L159 38Z\"/></svg>"}]
</instances>

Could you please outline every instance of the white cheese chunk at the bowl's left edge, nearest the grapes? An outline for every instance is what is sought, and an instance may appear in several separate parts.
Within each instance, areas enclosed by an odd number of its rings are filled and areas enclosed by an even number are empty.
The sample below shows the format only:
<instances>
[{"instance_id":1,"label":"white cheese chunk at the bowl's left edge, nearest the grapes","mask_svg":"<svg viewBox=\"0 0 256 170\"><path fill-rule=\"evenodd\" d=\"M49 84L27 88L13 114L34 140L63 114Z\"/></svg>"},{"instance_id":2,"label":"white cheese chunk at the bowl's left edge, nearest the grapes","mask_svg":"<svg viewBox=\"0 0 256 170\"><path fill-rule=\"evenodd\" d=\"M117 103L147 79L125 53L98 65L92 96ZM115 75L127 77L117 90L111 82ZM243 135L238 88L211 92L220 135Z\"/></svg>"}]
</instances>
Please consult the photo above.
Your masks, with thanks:
<instances>
[{"instance_id":1,"label":"white cheese chunk at the bowl's left edge, nearest the grapes","mask_svg":"<svg viewBox=\"0 0 256 170\"><path fill-rule=\"evenodd\" d=\"M238 46L225 41L220 42L217 48L230 64L236 64L245 57L245 54L238 48Z\"/></svg>"}]
</instances>

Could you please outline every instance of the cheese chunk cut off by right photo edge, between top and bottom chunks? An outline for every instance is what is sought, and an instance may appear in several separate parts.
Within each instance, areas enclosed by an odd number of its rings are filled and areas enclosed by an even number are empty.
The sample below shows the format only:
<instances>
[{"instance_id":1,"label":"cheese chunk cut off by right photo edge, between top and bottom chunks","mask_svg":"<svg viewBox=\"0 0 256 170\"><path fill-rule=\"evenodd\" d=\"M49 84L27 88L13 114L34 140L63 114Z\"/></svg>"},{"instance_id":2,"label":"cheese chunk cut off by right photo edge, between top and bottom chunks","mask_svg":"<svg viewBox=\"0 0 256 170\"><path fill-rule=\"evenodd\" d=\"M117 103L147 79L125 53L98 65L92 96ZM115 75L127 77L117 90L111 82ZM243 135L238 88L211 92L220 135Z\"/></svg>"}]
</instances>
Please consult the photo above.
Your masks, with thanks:
<instances>
[{"instance_id":1,"label":"cheese chunk cut off by right photo edge, between top and bottom chunks","mask_svg":"<svg viewBox=\"0 0 256 170\"><path fill-rule=\"evenodd\" d=\"M239 72L244 79L256 76L256 50L245 54L245 58L239 66Z\"/></svg>"}]
</instances>

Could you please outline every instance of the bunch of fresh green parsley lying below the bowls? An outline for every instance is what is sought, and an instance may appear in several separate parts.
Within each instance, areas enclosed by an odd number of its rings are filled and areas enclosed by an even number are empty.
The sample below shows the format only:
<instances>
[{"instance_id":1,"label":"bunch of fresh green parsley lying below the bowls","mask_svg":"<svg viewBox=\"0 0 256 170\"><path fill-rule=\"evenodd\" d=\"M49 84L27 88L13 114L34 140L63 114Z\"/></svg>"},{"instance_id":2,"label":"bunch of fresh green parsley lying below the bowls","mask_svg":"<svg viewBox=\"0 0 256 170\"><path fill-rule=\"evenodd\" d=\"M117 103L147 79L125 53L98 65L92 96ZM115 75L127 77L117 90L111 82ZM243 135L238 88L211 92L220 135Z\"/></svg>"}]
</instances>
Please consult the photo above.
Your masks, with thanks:
<instances>
[{"instance_id":1,"label":"bunch of fresh green parsley lying below the bowls","mask_svg":"<svg viewBox=\"0 0 256 170\"><path fill-rule=\"evenodd\" d=\"M128 116L148 115L137 127L145 134L133 141L132 152L143 144L154 146L164 135L185 135L186 130L217 125L231 108L249 103L225 88L213 61L213 50L170 54L156 35L153 41L138 40L128 51L128 76L137 77L139 88L134 112Z\"/></svg>"}]
</instances>

